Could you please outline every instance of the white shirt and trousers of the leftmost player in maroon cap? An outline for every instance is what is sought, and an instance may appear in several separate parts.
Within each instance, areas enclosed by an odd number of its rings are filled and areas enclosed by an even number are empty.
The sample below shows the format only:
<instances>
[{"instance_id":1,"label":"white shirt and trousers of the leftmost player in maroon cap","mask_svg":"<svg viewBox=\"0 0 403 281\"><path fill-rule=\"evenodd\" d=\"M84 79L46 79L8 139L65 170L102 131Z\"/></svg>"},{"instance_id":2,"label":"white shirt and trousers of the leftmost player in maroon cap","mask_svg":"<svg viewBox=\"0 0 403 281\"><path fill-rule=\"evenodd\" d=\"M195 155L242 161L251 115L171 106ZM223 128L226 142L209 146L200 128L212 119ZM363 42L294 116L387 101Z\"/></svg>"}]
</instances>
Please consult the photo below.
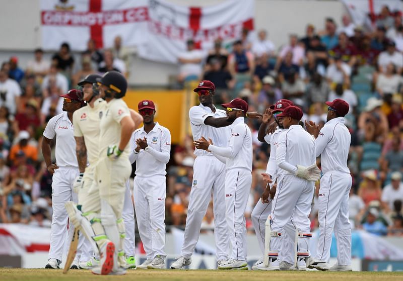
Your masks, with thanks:
<instances>
[{"instance_id":1,"label":"white shirt and trousers of the leftmost player in maroon cap","mask_svg":"<svg viewBox=\"0 0 403 281\"><path fill-rule=\"evenodd\" d=\"M70 244L74 227L68 227L68 214L64 203L78 202L77 194L73 192L73 184L79 175L76 156L76 140L74 139L73 124L67 112L52 117L46 125L43 136L53 139L56 136L56 164L52 176L52 225L50 228L50 249L48 258L62 259L64 244ZM80 236L75 259L80 260L84 236Z\"/></svg>"}]
</instances>

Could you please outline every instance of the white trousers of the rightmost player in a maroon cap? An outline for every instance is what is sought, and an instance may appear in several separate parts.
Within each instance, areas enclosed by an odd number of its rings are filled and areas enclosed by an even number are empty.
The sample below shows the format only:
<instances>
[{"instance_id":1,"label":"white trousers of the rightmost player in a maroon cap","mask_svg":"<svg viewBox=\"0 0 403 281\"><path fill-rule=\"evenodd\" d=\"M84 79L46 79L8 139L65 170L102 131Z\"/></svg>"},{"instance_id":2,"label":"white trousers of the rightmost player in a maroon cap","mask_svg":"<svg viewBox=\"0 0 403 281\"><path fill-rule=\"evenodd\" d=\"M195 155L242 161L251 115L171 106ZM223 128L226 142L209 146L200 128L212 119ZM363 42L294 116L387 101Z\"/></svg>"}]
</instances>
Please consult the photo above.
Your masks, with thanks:
<instances>
[{"instance_id":1,"label":"white trousers of the rightmost player in a maroon cap","mask_svg":"<svg viewBox=\"0 0 403 281\"><path fill-rule=\"evenodd\" d=\"M329 261L331 233L337 241L339 265L351 264L351 225L349 222L349 193L352 178L348 173L326 172L320 179L319 241L316 258Z\"/></svg>"}]
</instances>

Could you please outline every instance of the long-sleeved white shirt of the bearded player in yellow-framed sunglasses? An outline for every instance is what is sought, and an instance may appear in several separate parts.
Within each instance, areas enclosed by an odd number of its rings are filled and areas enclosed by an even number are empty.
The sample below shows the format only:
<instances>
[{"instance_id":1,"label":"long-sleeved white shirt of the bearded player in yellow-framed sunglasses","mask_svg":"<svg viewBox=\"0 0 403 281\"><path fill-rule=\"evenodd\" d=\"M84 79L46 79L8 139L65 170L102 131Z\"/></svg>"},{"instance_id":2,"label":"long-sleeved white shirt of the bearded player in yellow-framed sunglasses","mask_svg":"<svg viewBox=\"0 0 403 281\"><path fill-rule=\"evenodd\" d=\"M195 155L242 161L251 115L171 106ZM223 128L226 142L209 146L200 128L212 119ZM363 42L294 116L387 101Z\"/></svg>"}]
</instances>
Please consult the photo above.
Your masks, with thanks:
<instances>
[{"instance_id":1,"label":"long-sleeved white shirt of the bearded player in yellow-framed sunglasses","mask_svg":"<svg viewBox=\"0 0 403 281\"><path fill-rule=\"evenodd\" d=\"M228 147L209 145L209 150L215 156L226 158L226 170L244 168L252 171L252 134L245 118L238 117L231 125Z\"/></svg>"}]
</instances>

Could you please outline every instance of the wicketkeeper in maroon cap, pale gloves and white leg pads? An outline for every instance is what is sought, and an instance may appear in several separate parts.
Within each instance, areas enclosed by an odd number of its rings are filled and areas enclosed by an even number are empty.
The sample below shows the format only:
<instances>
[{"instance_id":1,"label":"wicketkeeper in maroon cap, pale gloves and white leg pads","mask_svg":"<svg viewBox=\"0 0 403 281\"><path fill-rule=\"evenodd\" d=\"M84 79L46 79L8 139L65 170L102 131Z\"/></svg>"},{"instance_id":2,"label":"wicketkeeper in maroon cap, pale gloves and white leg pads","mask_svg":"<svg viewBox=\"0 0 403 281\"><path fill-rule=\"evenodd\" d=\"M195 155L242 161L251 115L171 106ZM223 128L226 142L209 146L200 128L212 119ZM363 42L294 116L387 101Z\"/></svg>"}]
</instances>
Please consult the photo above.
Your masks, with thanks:
<instances>
[{"instance_id":1,"label":"wicketkeeper in maroon cap, pale gloves and white leg pads","mask_svg":"<svg viewBox=\"0 0 403 281\"><path fill-rule=\"evenodd\" d=\"M282 231L292 218L298 230L298 270L306 270L309 256L309 213L314 190L314 181L320 176L315 164L315 141L300 125L302 111L289 106L277 117L283 119L284 129L278 140L276 163L279 166L277 192L272 203L271 244L268 270L279 270L279 250L282 246Z\"/></svg>"}]
</instances>

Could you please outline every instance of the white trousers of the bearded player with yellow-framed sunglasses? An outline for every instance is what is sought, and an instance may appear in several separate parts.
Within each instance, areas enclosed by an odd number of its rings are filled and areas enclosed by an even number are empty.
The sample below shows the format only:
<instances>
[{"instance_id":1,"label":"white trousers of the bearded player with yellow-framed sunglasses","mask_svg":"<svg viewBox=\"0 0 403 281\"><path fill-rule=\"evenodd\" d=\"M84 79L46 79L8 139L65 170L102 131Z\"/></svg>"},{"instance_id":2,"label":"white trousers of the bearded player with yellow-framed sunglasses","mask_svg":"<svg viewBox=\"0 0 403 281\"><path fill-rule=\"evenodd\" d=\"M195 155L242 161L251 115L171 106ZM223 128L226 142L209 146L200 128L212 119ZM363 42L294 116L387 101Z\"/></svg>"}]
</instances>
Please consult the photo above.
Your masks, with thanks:
<instances>
[{"instance_id":1,"label":"white trousers of the bearded player with yellow-framed sunglasses","mask_svg":"<svg viewBox=\"0 0 403 281\"><path fill-rule=\"evenodd\" d=\"M246 219L252 173L247 169L231 169L225 173L225 209L232 245L230 257L246 260Z\"/></svg>"}]
</instances>

